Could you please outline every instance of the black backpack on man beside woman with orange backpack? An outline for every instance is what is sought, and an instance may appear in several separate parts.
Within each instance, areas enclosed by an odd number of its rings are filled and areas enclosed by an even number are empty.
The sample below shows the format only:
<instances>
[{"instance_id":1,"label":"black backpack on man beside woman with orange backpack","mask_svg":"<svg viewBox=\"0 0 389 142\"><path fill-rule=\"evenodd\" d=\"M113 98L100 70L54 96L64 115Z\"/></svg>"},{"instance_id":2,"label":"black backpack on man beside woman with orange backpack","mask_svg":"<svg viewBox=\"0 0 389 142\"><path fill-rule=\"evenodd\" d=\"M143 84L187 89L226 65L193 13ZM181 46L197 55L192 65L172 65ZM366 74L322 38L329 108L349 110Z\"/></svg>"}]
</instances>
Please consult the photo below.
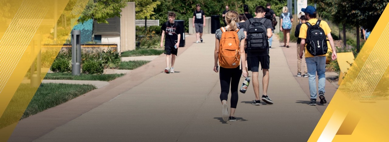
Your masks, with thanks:
<instances>
[{"instance_id":1,"label":"black backpack on man beside woman with orange backpack","mask_svg":"<svg viewBox=\"0 0 389 142\"><path fill-rule=\"evenodd\" d=\"M264 51L267 46L268 37L265 24L266 18L261 18L259 22L254 18L249 19L250 26L247 28L247 50L248 51Z\"/></svg>"}]
</instances>

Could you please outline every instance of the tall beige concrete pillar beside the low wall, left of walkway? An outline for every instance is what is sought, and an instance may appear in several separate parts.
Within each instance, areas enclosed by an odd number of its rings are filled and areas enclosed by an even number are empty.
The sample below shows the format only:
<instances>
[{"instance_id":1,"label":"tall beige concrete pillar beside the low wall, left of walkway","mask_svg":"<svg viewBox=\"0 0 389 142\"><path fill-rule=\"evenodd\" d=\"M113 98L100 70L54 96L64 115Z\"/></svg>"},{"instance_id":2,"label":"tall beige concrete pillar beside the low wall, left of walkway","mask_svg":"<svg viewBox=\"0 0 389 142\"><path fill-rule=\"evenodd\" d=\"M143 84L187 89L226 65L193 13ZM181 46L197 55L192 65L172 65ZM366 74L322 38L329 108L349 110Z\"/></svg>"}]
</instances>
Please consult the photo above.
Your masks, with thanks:
<instances>
[{"instance_id":1,"label":"tall beige concrete pillar beside the low wall, left of walkway","mask_svg":"<svg viewBox=\"0 0 389 142\"><path fill-rule=\"evenodd\" d=\"M120 52L135 50L135 2L122 9L120 25Z\"/></svg>"}]
</instances>

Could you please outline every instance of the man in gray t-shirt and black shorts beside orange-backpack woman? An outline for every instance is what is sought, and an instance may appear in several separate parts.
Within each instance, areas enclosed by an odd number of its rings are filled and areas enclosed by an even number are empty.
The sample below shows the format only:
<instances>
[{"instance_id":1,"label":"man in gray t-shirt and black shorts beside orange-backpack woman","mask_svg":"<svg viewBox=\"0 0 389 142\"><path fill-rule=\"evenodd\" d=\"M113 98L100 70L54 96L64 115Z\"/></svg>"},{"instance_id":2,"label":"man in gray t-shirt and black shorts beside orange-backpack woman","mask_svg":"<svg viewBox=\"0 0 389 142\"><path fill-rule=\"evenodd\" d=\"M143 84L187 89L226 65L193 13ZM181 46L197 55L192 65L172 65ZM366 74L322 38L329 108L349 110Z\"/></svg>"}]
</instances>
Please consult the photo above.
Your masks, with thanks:
<instances>
[{"instance_id":1,"label":"man in gray t-shirt and black shorts beside orange-backpack woman","mask_svg":"<svg viewBox=\"0 0 389 142\"><path fill-rule=\"evenodd\" d=\"M263 6L258 6L255 9L255 17L251 19L251 21L256 21L260 22L262 19L266 19L265 17L265 7ZM269 19L266 19L263 24L266 27L267 31L267 37L270 38L273 36L272 30L273 30L273 25L272 21ZM247 37L247 31L250 29L250 19L245 21L245 28L244 28L244 33L245 36ZM265 41L266 42L266 41ZM267 44L269 45L269 44ZM269 48L267 48L265 51L247 51L247 61L250 62L250 68L252 71L252 84L253 84L253 89L254 89L254 94L255 94L255 100L253 105L260 105L260 100L259 100L259 80L258 80L258 72L259 72L259 63L261 63L261 70L263 70L263 95L262 95L262 101L265 101L267 104L273 104L272 99L268 97L267 94L267 89L269 85L269 66L270 66L270 56L269 56Z\"/></svg>"}]
</instances>

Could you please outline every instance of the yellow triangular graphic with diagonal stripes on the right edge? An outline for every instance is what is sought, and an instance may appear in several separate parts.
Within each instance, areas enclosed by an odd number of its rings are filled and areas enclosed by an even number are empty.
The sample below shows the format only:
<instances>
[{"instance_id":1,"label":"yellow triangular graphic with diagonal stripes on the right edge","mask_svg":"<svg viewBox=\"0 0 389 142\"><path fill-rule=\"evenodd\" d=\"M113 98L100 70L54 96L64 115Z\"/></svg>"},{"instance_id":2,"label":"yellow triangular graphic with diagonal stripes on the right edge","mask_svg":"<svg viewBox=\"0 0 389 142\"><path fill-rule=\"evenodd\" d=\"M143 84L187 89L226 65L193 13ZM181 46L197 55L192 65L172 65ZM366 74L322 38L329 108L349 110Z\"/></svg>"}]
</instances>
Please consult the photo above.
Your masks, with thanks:
<instances>
[{"instance_id":1,"label":"yellow triangular graphic with diagonal stripes on the right edge","mask_svg":"<svg viewBox=\"0 0 389 142\"><path fill-rule=\"evenodd\" d=\"M388 45L386 7L308 141L388 141Z\"/></svg>"}]
</instances>

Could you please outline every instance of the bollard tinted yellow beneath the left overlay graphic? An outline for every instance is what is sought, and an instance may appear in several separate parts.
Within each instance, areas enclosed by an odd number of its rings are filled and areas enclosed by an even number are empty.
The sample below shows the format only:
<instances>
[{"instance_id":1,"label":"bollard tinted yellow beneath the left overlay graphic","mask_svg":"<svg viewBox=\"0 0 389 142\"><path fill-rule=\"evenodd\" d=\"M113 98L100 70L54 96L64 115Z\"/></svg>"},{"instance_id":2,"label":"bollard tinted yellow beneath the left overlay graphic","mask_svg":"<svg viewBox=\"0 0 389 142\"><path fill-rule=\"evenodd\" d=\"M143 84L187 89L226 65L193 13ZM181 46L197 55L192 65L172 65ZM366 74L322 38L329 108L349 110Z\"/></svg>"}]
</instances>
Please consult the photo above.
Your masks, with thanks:
<instances>
[{"instance_id":1,"label":"bollard tinted yellow beneath the left overlay graphic","mask_svg":"<svg viewBox=\"0 0 389 142\"><path fill-rule=\"evenodd\" d=\"M33 40L32 40L32 46L31 46L31 54L33 55L33 53L35 52L35 44L37 44L37 47L39 49L38 53L37 53L37 62L35 63L35 56L32 56L32 65L31 65L31 69L30 69L30 85L32 87L39 87L40 85L40 82L41 82L41 77L40 77L40 39L42 38L41 35L37 34L34 36ZM35 65L37 65L37 73L35 74Z\"/></svg>"}]
</instances>

